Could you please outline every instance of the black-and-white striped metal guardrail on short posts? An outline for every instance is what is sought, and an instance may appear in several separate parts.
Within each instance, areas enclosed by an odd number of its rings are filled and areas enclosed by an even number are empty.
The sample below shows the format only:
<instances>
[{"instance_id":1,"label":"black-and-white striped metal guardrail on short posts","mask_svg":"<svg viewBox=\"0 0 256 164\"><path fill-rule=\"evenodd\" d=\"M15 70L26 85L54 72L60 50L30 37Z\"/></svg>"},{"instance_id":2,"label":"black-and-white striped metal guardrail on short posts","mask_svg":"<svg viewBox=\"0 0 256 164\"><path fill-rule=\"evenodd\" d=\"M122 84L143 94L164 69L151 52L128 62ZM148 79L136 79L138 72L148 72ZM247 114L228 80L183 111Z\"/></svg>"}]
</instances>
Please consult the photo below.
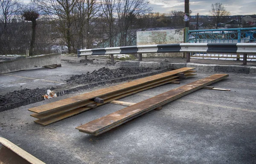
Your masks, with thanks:
<instances>
[{"instance_id":1,"label":"black-and-white striped metal guardrail on short posts","mask_svg":"<svg viewBox=\"0 0 256 164\"><path fill-rule=\"evenodd\" d=\"M142 60L143 53L173 53L186 52L187 62L189 62L190 53L225 53L225 54L255 54L256 43L179 43L179 44L154 44L141 46L109 47L101 49L80 49L78 57L89 55L113 55L116 54L139 54L139 61ZM247 61L247 55L243 55L244 62ZM246 65L246 63L244 63Z\"/></svg>"}]
</instances>

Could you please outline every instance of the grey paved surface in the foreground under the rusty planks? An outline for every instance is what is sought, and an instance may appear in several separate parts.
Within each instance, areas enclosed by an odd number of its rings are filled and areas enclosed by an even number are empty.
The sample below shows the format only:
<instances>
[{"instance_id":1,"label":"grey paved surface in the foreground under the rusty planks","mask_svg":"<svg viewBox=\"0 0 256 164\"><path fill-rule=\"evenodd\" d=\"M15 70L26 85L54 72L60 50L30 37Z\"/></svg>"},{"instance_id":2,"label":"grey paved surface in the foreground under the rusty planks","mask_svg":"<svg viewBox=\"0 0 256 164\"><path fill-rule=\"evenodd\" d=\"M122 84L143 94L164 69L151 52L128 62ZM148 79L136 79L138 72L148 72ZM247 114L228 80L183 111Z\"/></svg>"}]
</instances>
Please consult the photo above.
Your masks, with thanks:
<instances>
[{"instance_id":1,"label":"grey paved surface in the foreground under the rusty planks","mask_svg":"<svg viewBox=\"0 0 256 164\"><path fill-rule=\"evenodd\" d=\"M212 74L120 100L137 103ZM99 136L75 127L125 106L105 104L47 127L27 111L82 92L1 112L0 135L47 164L255 164L256 76L229 75L212 86L230 92L200 89Z\"/></svg>"}]
</instances>

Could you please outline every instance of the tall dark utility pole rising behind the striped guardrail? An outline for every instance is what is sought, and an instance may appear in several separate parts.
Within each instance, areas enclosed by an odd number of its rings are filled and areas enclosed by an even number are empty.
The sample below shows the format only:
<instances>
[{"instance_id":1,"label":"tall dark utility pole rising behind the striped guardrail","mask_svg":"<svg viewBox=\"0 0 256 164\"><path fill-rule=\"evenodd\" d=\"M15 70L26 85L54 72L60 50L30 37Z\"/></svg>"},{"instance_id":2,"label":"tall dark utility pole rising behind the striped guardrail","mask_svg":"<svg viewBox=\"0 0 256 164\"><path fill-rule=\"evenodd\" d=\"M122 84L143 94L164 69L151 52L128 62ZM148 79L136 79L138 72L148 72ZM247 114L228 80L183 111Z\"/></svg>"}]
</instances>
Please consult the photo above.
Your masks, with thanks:
<instances>
[{"instance_id":1,"label":"tall dark utility pole rising behind the striped guardrail","mask_svg":"<svg viewBox=\"0 0 256 164\"><path fill-rule=\"evenodd\" d=\"M185 15L184 15L184 42L189 42L189 0L185 0ZM190 62L190 53L186 53L186 62Z\"/></svg>"}]
</instances>

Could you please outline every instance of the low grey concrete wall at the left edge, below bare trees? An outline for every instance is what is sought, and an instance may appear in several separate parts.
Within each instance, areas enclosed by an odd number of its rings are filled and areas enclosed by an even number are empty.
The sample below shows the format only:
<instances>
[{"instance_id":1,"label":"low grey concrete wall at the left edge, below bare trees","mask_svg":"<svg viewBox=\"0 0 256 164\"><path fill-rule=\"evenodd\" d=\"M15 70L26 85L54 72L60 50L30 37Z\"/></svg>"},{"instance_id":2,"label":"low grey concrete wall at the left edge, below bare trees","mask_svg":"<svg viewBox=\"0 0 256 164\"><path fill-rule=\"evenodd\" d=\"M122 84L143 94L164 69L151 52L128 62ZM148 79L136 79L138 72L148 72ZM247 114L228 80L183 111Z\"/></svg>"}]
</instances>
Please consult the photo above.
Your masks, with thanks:
<instances>
[{"instance_id":1,"label":"low grey concrete wall at the left edge, below bare trees","mask_svg":"<svg viewBox=\"0 0 256 164\"><path fill-rule=\"evenodd\" d=\"M31 69L60 63L60 54L49 54L31 58L3 61L0 62L0 73L15 72L23 69Z\"/></svg>"}]
</instances>

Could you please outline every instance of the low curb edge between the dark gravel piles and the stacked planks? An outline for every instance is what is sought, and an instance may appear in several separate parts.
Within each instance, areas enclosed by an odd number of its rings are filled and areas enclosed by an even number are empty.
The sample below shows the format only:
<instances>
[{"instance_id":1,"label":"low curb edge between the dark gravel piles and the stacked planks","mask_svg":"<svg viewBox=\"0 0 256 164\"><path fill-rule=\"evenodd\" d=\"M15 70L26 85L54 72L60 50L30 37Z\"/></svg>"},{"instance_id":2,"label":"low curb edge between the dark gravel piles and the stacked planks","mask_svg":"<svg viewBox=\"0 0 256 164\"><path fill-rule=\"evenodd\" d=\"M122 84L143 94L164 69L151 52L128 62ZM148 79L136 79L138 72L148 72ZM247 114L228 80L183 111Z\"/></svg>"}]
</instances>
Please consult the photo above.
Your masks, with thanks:
<instances>
[{"instance_id":1,"label":"low curb edge between the dark gravel piles and the stacked planks","mask_svg":"<svg viewBox=\"0 0 256 164\"><path fill-rule=\"evenodd\" d=\"M78 92L79 90L91 89L91 88L94 88L96 86L103 85L103 84L119 83L119 82L122 82L122 81L134 80L134 79L137 79L137 78L143 78L143 77L146 77L146 76L156 75L156 74L163 73L163 72L166 72L166 71L168 71L168 69L157 70L157 71L154 71L154 72L147 72L147 73L143 73L143 74L140 74L140 75L131 75L131 76L127 76L127 77L123 77L123 78L116 78L116 79L112 79L112 80L99 81L97 83L89 83L89 84L86 84L86 85L76 86L74 88L64 89L64 90L61 90L61 91L57 90L57 91L55 91L55 93L59 97L59 96L66 95L66 94L69 94L69 93ZM14 109L14 108L17 108L17 107L20 107L20 106L25 106L25 105L28 105L28 104L33 104L33 103L36 103L36 102L39 102L39 101L44 101L44 98L43 97L30 98L30 99L27 99L26 101L20 101L20 102L17 102L17 103L8 104L8 105L5 105L5 106L0 106L0 112L10 110L10 109Z\"/></svg>"}]
</instances>

